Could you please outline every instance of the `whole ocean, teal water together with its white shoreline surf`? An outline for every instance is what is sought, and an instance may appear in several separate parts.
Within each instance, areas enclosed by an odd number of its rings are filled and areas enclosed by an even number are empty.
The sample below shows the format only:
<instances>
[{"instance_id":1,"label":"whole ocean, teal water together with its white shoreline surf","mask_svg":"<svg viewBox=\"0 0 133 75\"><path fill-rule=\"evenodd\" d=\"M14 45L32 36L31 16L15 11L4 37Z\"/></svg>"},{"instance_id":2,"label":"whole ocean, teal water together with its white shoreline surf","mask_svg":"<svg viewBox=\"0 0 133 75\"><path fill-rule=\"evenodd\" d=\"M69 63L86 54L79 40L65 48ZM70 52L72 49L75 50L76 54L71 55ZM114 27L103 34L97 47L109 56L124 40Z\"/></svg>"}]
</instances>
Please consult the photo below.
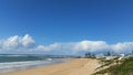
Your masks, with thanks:
<instances>
[{"instance_id":1,"label":"whole ocean, teal water together with its white shoreline surf","mask_svg":"<svg viewBox=\"0 0 133 75\"><path fill-rule=\"evenodd\" d=\"M0 55L0 74L63 63L66 61L69 61L69 58L51 58L49 56L39 55Z\"/></svg>"}]
</instances>

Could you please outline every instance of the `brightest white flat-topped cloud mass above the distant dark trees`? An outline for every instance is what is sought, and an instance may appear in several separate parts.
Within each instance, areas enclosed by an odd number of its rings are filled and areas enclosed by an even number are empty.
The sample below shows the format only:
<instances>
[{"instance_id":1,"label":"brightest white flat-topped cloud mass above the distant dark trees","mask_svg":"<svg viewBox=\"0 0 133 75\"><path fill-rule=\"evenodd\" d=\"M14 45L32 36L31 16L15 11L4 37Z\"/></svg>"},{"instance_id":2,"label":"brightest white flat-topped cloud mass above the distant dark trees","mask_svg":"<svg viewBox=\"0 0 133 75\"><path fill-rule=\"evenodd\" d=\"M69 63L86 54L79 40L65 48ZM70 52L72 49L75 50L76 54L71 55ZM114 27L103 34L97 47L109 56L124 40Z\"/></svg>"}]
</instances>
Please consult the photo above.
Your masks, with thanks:
<instances>
[{"instance_id":1,"label":"brightest white flat-topped cloud mass above the distant dark trees","mask_svg":"<svg viewBox=\"0 0 133 75\"><path fill-rule=\"evenodd\" d=\"M75 43L75 51L98 51L108 49L108 44L104 41L81 41Z\"/></svg>"}]
</instances>

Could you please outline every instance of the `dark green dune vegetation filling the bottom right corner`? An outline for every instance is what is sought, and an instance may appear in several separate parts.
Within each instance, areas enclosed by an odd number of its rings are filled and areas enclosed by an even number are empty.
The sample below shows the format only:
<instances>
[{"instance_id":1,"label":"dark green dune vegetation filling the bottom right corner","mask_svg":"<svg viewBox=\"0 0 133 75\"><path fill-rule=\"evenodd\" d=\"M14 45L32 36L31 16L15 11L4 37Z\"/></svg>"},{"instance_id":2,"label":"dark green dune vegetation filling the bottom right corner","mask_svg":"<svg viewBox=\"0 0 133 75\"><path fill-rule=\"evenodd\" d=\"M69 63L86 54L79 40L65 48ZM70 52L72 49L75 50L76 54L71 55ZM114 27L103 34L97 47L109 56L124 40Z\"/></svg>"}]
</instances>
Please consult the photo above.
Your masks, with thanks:
<instances>
[{"instance_id":1,"label":"dark green dune vegetation filling the bottom right corner","mask_svg":"<svg viewBox=\"0 0 133 75\"><path fill-rule=\"evenodd\" d=\"M109 62L111 64L112 61ZM109 68L101 69L94 75L108 74L108 75L133 75L133 57L125 58L121 62L115 62L115 65L110 66Z\"/></svg>"}]
</instances>

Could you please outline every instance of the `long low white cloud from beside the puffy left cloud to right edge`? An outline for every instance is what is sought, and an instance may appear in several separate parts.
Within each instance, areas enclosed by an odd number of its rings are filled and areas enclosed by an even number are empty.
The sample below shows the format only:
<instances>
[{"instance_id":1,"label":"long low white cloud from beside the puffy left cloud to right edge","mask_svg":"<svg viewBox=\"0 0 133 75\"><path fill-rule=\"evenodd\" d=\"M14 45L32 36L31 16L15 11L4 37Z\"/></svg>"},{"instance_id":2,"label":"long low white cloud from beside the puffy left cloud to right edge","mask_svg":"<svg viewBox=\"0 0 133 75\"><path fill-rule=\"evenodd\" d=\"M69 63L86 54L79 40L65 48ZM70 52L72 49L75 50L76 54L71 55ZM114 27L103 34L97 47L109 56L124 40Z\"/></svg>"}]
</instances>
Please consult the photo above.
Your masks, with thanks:
<instances>
[{"instance_id":1,"label":"long low white cloud from beside the puffy left cloud to right edge","mask_svg":"<svg viewBox=\"0 0 133 75\"><path fill-rule=\"evenodd\" d=\"M131 53L133 51L133 42L123 42L116 44L108 44L105 41L80 41L68 43L53 43L48 46L39 46L42 51L69 51L71 53L78 52L116 52Z\"/></svg>"}]
</instances>

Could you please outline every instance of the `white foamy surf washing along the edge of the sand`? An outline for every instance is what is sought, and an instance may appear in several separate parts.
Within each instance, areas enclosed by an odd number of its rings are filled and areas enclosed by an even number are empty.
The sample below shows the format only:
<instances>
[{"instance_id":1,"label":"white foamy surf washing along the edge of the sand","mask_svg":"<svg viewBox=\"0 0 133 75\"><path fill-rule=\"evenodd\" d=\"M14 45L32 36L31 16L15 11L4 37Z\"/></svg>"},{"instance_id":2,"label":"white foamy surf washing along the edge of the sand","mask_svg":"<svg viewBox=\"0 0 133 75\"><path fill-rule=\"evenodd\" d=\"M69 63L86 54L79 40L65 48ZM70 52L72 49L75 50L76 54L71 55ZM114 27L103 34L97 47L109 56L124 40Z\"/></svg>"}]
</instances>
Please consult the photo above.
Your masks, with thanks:
<instances>
[{"instance_id":1,"label":"white foamy surf washing along the edge of the sand","mask_svg":"<svg viewBox=\"0 0 133 75\"><path fill-rule=\"evenodd\" d=\"M65 62L64 60L58 60L58 58L48 58L44 61L25 61L25 62L6 62L6 63L0 63L0 73L8 73L12 71L18 71L18 69L25 69L25 68L31 68L35 66L41 66L41 65L50 65L54 63L61 63Z\"/></svg>"}]
</instances>

